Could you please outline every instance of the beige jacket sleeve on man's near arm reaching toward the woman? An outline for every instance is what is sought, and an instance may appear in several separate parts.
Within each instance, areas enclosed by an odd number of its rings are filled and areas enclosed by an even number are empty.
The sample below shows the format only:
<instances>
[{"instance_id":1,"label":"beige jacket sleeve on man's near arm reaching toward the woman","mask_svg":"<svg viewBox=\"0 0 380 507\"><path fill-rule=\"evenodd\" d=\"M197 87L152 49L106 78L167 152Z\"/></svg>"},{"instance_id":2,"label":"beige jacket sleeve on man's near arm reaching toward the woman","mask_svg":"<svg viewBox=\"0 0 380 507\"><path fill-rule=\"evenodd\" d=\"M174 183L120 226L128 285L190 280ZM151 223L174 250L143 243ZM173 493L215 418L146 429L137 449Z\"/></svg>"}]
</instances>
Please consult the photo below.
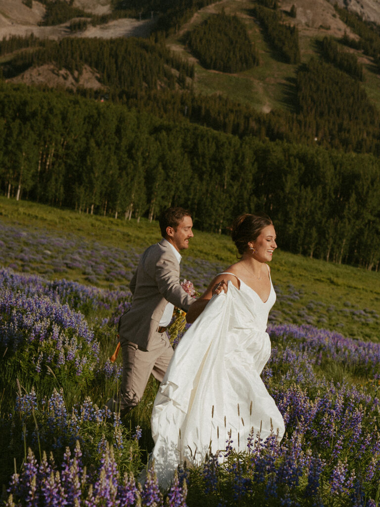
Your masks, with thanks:
<instances>
[{"instance_id":1,"label":"beige jacket sleeve on man's near arm reaching toward the woman","mask_svg":"<svg viewBox=\"0 0 380 507\"><path fill-rule=\"evenodd\" d=\"M187 312L194 303L179 283L179 265L174 257L162 256L156 263L156 282L160 293L174 306Z\"/></svg>"}]
</instances>

